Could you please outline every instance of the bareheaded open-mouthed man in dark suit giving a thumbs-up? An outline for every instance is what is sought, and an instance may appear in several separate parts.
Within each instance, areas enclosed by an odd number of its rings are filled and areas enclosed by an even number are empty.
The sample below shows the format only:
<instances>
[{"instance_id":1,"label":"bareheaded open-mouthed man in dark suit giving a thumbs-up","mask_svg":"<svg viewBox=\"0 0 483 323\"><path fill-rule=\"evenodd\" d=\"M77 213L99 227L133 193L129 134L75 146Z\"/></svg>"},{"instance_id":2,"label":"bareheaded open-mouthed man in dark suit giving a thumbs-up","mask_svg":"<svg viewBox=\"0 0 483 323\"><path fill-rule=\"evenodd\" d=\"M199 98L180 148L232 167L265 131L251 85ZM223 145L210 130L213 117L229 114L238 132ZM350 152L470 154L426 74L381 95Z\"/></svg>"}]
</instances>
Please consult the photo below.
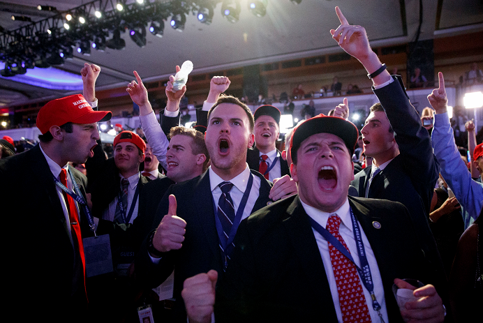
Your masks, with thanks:
<instances>
[{"instance_id":1,"label":"bareheaded open-mouthed man in dark suit giving a thumbs-up","mask_svg":"<svg viewBox=\"0 0 483 323\"><path fill-rule=\"evenodd\" d=\"M156 212L156 230L142 243L135 260L136 277L150 287L162 283L175 268L177 322L186 322L181 298L184 280L213 268L223 272L225 256L230 256L221 250L219 234L223 234L223 229L216 226L216 216L222 216L215 206L222 195L218 184L234 184L229 196L235 213L239 212L237 218L246 218L272 201L268 197L272 184L258 172L250 172L246 165L244 154L253 144L253 116L248 107L236 98L223 97L211 108L209 116L211 122L205 137L211 158L209 170L168 189ZM248 186L251 178L252 186ZM247 198L246 206L239 208L242 196Z\"/></svg>"}]
</instances>

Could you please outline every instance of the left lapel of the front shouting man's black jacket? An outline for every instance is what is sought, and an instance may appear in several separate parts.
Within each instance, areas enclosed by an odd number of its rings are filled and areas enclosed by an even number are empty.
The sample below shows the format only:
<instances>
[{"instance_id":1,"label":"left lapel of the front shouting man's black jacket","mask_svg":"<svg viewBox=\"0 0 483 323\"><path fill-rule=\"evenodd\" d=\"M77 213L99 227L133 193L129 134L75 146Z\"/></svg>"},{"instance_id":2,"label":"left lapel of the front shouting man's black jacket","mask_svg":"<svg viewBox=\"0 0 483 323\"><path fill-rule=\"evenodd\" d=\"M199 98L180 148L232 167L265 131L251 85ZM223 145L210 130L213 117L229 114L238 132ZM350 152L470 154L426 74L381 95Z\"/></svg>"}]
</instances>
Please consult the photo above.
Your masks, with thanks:
<instances>
[{"instance_id":1,"label":"left lapel of the front shouting man's black jacket","mask_svg":"<svg viewBox=\"0 0 483 323\"><path fill-rule=\"evenodd\" d=\"M310 294L320 296L320 304L332 304L332 294L330 292L329 282L327 281L327 274L325 273L320 250L315 241L315 236L311 229L309 218L300 203L299 197L295 197L292 204L287 209L290 216L283 221L286 227L286 232L290 241L297 250L297 257L299 264L302 267L302 272L306 275L306 280L311 282L313 292ZM325 313L325 320L327 322L337 322L336 312L333 306L327 306L327 310L332 310Z\"/></svg>"}]
</instances>

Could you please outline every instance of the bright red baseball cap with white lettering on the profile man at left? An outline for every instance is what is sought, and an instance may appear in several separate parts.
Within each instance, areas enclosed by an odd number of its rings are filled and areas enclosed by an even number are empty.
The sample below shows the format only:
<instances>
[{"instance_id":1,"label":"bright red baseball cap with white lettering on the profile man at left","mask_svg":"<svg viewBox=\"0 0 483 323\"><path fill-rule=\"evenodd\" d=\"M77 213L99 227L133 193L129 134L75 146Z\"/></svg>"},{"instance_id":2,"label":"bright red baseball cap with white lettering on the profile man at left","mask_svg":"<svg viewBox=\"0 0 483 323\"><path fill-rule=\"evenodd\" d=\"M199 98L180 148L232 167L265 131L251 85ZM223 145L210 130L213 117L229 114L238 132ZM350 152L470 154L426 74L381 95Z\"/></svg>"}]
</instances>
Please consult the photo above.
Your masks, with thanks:
<instances>
[{"instance_id":1,"label":"bright red baseball cap with white lettering on the profile man at left","mask_svg":"<svg viewBox=\"0 0 483 323\"><path fill-rule=\"evenodd\" d=\"M111 119L110 111L94 111L81 94L49 101L37 114L37 128L45 134L52 126L72 123L94 123Z\"/></svg>"}]
</instances>

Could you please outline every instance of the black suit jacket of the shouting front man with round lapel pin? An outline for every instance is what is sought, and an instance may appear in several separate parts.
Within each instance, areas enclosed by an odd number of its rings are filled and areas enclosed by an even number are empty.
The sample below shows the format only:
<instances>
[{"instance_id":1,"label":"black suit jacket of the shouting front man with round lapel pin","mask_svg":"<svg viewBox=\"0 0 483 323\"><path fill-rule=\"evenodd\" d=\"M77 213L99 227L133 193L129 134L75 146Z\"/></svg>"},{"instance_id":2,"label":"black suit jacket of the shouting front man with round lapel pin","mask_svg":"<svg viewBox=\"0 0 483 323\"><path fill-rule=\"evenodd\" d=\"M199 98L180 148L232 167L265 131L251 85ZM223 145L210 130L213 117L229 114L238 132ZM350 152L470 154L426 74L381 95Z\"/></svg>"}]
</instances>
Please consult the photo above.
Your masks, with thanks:
<instances>
[{"instance_id":1,"label":"black suit jacket of the shouting front man with round lapel pin","mask_svg":"<svg viewBox=\"0 0 483 323\"><path fill-rule=\"evenodd\" d=\"M408 211L399 203L348 197L378 262L389 322L403 322L392 294L394 278L415 278L445 295L419 246ZM380 229L373 227L380 223ZM298 195L242 221L235 250L218 278L216 322L337 322L336 312L309 216ZM368 304L371 306L371 304Z\"/></svg>"}]
</instances>

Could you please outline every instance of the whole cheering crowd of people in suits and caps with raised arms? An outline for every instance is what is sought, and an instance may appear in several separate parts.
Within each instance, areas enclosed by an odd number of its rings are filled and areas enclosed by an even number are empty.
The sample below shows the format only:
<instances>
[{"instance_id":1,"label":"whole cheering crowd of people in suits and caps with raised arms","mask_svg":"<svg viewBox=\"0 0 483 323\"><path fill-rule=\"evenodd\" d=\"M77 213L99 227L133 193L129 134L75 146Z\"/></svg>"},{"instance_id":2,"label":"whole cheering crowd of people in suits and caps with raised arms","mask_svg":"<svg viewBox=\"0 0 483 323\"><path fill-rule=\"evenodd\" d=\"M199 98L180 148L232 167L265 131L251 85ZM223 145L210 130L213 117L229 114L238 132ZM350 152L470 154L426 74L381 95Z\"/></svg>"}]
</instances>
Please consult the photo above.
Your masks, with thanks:
<instances>
[{"instance_id":1,"label":"whole cheering crowd of people in suits and caps with raised arms","mask_svg":"<svg viewBox=\"0 0 483 323\"><path fill-rule=\"evenodd\" d=\"M307 109L283 150L281 111L252 113L224 94L228 77L211 79L196 126L185 128L186 85L174 91L170 77L160 124L134 72L126 91L142 131L119 129L107 158L97 123L112 114L97 109L101 68L85 63L82 95L38 112L40 144L14 154L0 140L0 196L15 207L6 227L23 223L3 238L6 308L49 322L482 320L474 123L472 174L443 73L419 117L365 29L336 15L332 38L362 63L379 103L360 134L347 98L328 116ZM160 301L153 289L170 281Z\"/></svg>"}]
</instances>

